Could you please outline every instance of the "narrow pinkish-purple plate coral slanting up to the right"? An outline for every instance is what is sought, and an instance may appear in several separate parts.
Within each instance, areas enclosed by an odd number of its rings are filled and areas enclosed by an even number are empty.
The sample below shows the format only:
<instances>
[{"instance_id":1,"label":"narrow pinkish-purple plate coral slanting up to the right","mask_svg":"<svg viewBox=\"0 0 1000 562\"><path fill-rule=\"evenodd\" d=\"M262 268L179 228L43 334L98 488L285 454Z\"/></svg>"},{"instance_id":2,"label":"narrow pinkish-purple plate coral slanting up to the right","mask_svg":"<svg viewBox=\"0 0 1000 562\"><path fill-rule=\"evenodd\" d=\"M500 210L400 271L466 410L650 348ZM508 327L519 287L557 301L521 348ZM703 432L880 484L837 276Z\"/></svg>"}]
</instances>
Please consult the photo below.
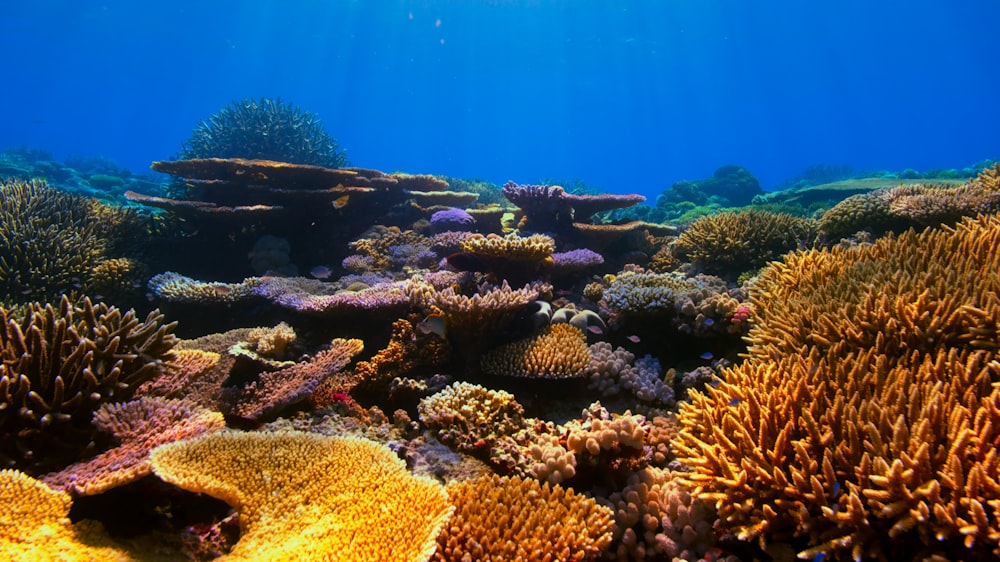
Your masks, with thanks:
<instances>
[{"instance_id":1,"label":"narrow pinkish-purple plate coral slanting up to the right","mask_svg":"<svg viewBox=\"0 0 1000 562\"><path fill-rule=\"evenodd\" d=\"M346 367L363 348L364 342L359 339L337 338L330 343L330 349L308 361L260 373L246 386L226 387L220 397L223 413L254 422L272 416L309 398L323 379Z\"/></svg>"}]
</instances>

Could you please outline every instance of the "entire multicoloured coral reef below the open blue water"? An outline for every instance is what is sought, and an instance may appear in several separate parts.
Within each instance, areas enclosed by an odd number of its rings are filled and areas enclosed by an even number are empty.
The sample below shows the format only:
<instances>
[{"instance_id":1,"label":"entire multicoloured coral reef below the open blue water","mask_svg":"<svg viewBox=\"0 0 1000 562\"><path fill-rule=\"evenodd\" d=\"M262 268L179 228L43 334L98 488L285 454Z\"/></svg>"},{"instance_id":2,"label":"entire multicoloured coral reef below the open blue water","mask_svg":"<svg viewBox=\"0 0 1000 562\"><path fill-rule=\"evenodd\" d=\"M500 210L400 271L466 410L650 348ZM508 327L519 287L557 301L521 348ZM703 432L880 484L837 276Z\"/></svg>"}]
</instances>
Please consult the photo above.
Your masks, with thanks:
<instances>
[{"instance_id":1,"label":"entire multicoloured coral reef below the open blue water","mask_svg":"<svg viewBox=\"0 0 1000 562\"><path fill-rule=\"evenodd\" d=\"M5 162L5 559L1000 557L1000 166L645 206L270 99Z\"/></svg>"}]
</instances>

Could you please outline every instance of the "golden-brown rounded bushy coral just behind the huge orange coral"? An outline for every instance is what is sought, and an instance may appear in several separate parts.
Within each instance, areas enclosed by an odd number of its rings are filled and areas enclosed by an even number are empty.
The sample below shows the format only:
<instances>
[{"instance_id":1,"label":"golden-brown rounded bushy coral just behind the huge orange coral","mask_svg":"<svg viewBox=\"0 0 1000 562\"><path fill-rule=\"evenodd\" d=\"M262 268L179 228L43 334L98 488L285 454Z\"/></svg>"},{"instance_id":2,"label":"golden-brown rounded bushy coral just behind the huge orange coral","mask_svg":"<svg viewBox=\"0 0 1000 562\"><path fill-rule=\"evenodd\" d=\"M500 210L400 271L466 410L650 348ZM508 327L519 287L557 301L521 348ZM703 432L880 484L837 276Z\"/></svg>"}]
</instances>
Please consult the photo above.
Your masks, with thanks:
<instances>
[{"instance_id":1,"label":"golden-brown rounded bushy coral just behind the huge orange coral","mask_svg":"<svg viewBox=\"0 0 1000 562\"><path fill-rule=\"evenodd\" d=\"M813 230L808 220L784 213L727 211L691 223L675 248L705 272L735 278L811 242Z\"/></svg>"}]
</instances>

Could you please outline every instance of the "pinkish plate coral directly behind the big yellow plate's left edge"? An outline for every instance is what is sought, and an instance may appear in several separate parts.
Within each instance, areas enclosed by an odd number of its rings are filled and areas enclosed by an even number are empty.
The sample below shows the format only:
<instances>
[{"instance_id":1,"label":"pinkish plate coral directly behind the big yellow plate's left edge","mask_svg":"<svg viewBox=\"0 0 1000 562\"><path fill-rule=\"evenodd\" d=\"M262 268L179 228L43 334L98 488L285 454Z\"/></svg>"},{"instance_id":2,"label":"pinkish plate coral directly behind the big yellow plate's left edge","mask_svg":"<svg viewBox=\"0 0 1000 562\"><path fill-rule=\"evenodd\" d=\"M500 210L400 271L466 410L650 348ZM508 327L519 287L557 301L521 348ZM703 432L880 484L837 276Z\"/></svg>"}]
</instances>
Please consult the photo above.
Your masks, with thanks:
<instances>
[{"instance_id":1,"label":"pinkish plate coral directly behind the big yellow plate's left edge","mask_svg":"<svg viewBox=\"0 0 1000 562\"><path fill-rule=\"evenodd\" d=\"M94 426L117 444L41 480L76 495L100 494L149 474L149 453L156 447L221 431L225 425L222 414L181 400L144 396L104 404L94 413Z\"/></svg>"}]
</instances>

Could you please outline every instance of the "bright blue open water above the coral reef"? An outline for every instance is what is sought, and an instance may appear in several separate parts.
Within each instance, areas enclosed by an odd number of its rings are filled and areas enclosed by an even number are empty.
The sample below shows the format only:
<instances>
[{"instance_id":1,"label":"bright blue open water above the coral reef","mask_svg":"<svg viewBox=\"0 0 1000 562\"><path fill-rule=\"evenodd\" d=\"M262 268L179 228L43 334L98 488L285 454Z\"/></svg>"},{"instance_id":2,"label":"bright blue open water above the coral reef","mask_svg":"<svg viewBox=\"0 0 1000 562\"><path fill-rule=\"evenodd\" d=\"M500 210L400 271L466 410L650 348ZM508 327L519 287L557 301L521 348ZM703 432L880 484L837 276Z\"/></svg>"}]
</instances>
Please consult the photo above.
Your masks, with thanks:
<instances>
[{"instance_id":1,"label":"bright blue open water above the coral reef","mask_svg":"<svg viewBox=\"0 0 1000 562\"><path fill-rule=\"evenodd\" d=\"M1000 2L4 2L0 149L175 155L227 103L317 113L351 163L655 196L720 165L1000 156Z\"/></svg>"}]
</instances>

